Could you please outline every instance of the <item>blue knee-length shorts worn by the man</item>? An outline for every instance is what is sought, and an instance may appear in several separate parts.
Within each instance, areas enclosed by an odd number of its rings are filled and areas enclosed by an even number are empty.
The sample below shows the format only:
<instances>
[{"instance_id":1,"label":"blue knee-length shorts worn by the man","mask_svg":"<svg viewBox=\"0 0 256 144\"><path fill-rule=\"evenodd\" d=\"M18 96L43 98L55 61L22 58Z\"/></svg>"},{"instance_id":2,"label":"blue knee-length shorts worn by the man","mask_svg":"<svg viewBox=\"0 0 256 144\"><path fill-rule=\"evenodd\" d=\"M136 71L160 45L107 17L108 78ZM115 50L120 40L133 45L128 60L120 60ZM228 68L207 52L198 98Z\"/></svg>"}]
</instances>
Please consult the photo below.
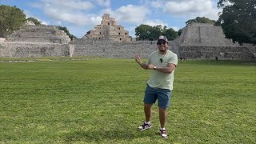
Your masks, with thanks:
<instances>
[{"instance_id":1,"label":"blue knee-length shorts worn by the man","mask_svg":"<svg viewBox=\"0 0 256 144\"><path fill-rule=\"evenodd\" d=\"M153 105L158 99L158 107L167 109L170 106L171 90L159 89L146 86L145 97L143 102Z\"/></svg>"}]
</instances>

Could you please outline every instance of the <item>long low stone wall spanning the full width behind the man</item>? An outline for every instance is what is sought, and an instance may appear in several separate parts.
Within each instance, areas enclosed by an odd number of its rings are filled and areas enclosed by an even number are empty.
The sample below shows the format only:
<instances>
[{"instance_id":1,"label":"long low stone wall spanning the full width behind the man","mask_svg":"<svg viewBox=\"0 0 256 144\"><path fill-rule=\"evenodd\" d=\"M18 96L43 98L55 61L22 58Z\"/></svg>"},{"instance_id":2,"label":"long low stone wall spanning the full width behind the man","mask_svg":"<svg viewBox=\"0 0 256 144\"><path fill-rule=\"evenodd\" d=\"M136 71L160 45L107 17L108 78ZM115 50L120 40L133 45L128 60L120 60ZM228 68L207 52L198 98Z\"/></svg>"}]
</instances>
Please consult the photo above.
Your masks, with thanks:
<instances>
[{"instance_id":1,"label":"long low stone wall spanning the full width behind the man","mask_svg":"<svg viewBox=\"0 0 256 144\"><path fill-rule=\"evenodd\" d=\"M178 46L179 39L170 42L170 50L178 57L189 59L255 59L255 46ZM148 58L149 54L158 50L156 41L114 42L110 40L94 40L79 38L69 44L46 42L0 42L0 57L75 57L102 56L106 58L134 58L141 54Z\"/></svg>"}]
</instances>

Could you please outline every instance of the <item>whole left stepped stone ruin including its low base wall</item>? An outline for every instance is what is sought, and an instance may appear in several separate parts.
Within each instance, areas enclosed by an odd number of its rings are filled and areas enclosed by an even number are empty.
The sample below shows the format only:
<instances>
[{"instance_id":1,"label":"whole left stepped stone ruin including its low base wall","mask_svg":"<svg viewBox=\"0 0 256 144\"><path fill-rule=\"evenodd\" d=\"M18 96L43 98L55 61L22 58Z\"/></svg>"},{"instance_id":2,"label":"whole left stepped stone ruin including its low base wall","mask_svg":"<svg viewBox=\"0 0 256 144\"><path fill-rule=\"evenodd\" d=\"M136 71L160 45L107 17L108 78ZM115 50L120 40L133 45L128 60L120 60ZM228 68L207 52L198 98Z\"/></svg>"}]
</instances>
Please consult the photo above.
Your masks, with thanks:
<instances>
[{"instance_id":1,"label":"whole left stepped stone ruin including its low base wall","mask_svg":"<svg viewBox=\"0 0 256 144\"><path fill-rule=\"evenodd\" d=\"M0 42L0 57L67 57L70 38L54 26L26 25Z\"/></svg>"}]
</instances>

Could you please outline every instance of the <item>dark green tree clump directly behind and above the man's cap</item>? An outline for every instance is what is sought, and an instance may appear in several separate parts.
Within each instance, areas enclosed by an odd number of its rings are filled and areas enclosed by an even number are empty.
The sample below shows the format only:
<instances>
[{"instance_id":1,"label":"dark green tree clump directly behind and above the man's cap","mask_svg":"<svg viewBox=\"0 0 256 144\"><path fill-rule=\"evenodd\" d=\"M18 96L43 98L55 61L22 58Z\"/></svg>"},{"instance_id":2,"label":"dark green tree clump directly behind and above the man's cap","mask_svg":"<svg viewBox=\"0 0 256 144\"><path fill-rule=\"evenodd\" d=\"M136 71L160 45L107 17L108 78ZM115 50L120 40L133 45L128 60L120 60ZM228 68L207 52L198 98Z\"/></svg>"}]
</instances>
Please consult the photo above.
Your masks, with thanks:
<instances>
[{"instance_id":1,"label":"dark green tree clump directly behind and above the man's cap","mask_svg":"<svg viewBox=\"0 0 256 144\"><path fill-rule=\"evenodd\" d=\"M167 29L166 26L149 26L149 25L140 25L135 28L135 35L138 37L138 40L157 40L159 35L165 35L169 40L173 40L178 37L178 32L173 29Z\"/></svg>"}]
</instances>

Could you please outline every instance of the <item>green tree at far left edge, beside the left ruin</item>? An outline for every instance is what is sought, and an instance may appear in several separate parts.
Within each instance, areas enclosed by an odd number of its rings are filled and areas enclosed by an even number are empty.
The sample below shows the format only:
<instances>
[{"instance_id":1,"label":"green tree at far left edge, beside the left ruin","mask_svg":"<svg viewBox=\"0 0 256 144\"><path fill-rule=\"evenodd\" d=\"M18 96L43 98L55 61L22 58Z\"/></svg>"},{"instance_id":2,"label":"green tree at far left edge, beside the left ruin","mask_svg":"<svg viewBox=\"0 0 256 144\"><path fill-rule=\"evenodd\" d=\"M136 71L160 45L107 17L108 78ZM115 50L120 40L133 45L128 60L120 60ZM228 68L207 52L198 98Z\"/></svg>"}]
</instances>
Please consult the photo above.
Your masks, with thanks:
<instances>
[{"instance_id":1,"label":"green tree at far left edge, beside the left ruin","mask_svg":"<svg viewBox=\"0 0 256 144\"><path fill-rule=\"evenodd\" d=\"M0 6L0 37L6 38L26 22L26 15L16 6Z\"/></svg>"}]
</instances>

